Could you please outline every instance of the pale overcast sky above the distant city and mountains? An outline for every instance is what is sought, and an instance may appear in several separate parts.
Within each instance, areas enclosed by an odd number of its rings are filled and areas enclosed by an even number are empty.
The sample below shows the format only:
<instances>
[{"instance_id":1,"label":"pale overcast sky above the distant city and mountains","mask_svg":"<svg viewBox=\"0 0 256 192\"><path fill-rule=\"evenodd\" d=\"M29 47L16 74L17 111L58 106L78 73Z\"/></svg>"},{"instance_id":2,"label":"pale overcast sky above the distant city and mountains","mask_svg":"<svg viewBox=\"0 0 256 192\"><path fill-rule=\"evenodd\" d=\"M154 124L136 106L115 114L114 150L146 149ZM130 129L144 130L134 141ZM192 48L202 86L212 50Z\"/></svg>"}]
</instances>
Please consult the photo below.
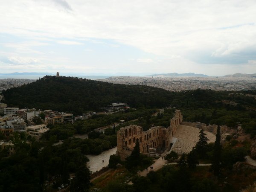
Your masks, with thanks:
<instances>
[{"instance_id":1,"label":"pale overcast sky above the distant city and mountains","mask_svg":"<svg viewBox=\"0 0 256 192\"><path fill-rule=\"evenodd\" d=\"M0 73L256 73L255 0L0 0Z\"/></svg>"}]
</instances>

